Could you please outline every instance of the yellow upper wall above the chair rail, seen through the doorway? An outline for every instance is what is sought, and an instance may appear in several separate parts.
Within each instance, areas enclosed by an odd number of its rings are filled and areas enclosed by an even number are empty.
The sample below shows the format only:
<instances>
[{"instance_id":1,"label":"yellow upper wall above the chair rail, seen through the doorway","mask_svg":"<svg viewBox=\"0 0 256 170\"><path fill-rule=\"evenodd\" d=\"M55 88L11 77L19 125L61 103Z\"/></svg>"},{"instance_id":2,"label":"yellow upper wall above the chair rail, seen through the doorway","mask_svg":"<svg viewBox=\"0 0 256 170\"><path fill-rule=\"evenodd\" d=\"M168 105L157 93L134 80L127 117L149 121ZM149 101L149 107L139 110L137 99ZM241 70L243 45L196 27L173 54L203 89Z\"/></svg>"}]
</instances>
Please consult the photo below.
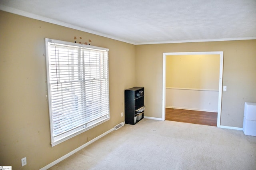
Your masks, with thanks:
<instances>
[{"instance_id":1,"label":"yellow upper wall above the chair rail, seen through the doorway","mask_svg":"<svg viewBox=\"0 0 256 170\"><path fill-rule=\"evenodd\" d=\"M219 89L220 55L167 55L166 87Z\"/></svg>"}]
</instances>

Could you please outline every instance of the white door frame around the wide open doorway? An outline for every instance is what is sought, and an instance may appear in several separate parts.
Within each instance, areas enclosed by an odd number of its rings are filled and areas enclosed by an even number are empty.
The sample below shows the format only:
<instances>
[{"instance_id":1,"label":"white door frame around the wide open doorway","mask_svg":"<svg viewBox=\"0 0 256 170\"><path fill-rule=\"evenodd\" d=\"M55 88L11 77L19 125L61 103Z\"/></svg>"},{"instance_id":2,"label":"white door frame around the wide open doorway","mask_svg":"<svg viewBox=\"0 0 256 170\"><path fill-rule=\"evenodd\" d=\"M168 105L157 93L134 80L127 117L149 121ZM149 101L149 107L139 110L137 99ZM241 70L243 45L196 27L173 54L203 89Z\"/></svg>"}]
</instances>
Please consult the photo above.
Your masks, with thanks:
<instances>
[{"instance_id":1,"label":"white door frame around the wide open doorway","mask_svg":"<svg viewBox=\"0 0 256 170\"><path fill-rule=\"evenodd\" d=\"M222 78L223 78L223 54L224 51L201 51L201 52L168 52L163 53L163 98L162 98L162 120L165 120L166 105L166 56L167 55L220 55L220 77L219 77L219 95L218 95L218 117L217 127L220 127L221 104L222 104Z\"/></svg>"}]
</instances>

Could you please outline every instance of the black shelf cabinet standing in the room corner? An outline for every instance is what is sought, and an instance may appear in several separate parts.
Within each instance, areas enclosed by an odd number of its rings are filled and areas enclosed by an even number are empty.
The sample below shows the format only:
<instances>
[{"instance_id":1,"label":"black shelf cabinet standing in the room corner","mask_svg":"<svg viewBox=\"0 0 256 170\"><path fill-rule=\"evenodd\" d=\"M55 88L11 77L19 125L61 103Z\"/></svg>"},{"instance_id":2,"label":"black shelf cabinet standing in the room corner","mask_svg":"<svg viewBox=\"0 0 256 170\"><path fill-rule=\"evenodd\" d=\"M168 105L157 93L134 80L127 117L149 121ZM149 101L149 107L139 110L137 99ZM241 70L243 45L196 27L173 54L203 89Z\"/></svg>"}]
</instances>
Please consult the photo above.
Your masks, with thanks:
<instances>
[{"instance_id":1,"label":"black shelf cabinet standing in the room corner","mask_svg":"<svg viewBox=\"0 0 256 170\"><path fill-rule=\"evenodd\" d=\"M135 125L144 118L144 87L132 87L124 92L125 123ZM142 110L143 109L143 110ZM141 111L141 112L138 112ZM138 114L138 119L137 119Z\"/></svg>"}]
</instances>

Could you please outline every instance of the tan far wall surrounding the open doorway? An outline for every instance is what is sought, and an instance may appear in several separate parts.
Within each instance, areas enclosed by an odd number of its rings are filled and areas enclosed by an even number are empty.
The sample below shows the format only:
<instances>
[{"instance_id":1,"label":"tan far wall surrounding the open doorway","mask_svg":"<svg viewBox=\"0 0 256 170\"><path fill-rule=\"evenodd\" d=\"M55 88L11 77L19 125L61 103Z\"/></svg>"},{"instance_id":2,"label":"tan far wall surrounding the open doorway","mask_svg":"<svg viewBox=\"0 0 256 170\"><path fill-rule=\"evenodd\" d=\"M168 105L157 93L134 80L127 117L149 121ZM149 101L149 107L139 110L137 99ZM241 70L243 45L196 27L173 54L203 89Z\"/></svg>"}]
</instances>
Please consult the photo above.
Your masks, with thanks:
<instances>
[{"instance_id":1,"label":"tan far wall surrounding the open doorway","mask_svg":"<svg viewBox=\"0 0 256 170\"><path fill-rule=\"evenodd\" d=\"M244 102L256 102L256 40L136 45L136 85L145 87L145 116L162 118L164 52L224 51L220 125L242 127Z\"/></svg>"}]
</instances>

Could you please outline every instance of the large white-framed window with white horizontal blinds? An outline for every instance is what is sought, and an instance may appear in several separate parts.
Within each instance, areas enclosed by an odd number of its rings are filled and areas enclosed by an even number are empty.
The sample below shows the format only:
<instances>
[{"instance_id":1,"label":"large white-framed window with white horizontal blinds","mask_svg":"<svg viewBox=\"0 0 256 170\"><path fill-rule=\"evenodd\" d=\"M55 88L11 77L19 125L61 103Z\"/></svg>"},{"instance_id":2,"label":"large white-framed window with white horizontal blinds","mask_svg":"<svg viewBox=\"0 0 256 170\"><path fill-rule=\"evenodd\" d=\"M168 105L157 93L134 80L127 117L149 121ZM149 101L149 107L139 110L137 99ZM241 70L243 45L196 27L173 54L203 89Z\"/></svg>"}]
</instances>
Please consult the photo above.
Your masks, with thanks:
<instances>
[{"instance_id":1,"label":"large white-framed window with white horizontal blinds","mask_svg":"<svg viewBox=\"0 0 256 170\"><path fill-rule=\"evenodd\" d=\"M46 40L51 144L110 119L108 49Z\"/></svg>"}]
</instances>

